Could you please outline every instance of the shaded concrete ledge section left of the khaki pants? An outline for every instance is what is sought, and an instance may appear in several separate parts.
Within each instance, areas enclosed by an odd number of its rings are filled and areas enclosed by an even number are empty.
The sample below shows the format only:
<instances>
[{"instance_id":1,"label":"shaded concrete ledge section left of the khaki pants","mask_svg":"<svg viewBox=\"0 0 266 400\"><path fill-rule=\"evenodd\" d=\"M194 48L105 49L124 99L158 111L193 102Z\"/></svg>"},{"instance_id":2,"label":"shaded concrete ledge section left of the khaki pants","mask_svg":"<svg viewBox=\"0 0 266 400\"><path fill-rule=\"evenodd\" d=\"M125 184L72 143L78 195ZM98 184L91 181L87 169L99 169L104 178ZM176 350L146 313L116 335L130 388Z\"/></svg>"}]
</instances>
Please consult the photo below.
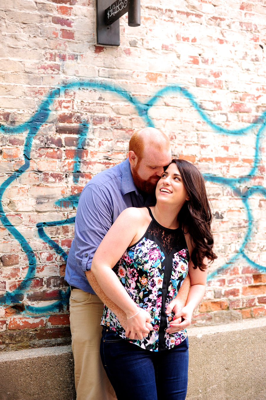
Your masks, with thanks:
<instances>
[{"instance_id":1,"label":"shaded concrete ledge section left of the khaki pants","mask_svg":"<svg viewBox=\"0 0 266 400\"><path fill-rule=\"evenodd\" d=\"M71 346L1 352L0 377L0 400L76 399Z\"/></svg>"}]
</instances>

